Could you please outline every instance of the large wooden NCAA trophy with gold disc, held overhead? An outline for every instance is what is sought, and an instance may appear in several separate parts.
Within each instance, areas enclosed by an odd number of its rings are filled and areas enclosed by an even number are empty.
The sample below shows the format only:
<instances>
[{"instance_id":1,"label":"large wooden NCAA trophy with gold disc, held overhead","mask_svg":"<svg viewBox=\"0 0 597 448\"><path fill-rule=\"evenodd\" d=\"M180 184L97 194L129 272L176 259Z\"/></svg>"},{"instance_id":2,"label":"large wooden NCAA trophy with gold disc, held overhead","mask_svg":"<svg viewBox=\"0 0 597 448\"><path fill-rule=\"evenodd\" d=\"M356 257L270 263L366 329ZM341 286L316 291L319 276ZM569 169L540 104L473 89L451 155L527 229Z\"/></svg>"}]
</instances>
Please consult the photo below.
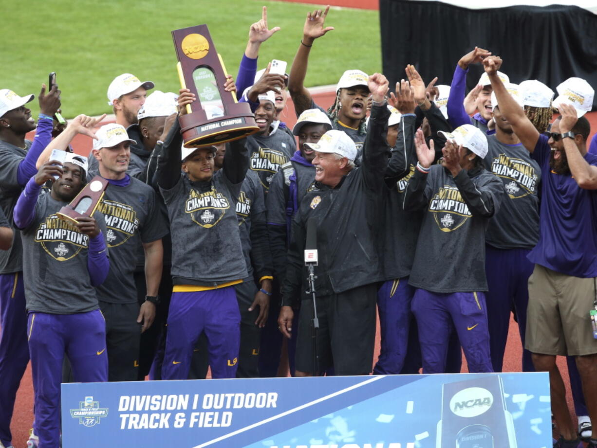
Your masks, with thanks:
<instances>
[{"instance_id":1,"label":"large wooden NCAA trophy with gold disc, held overhead","mask_svg":"<svg viewBox=\"0 0 597 448\"><path fill-rule=\"evenodd\" d=\"M210 146L255 134L259 127L247 103L224 91L226 69L207 25L172 32L180 85L195 94L193 107L180 116L185 147Z\"/></svg>"}]
</instances>

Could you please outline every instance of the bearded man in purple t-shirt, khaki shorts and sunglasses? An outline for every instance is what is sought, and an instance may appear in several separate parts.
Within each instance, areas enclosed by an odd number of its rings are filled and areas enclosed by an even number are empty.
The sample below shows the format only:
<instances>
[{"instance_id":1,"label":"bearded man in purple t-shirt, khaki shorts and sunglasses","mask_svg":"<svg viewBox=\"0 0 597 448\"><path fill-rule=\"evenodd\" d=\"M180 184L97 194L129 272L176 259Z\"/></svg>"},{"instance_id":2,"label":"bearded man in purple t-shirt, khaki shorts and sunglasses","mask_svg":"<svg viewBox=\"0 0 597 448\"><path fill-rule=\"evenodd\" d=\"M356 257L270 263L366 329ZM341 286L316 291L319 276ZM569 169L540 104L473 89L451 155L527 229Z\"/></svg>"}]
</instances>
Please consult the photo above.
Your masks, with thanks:
<instances>
[{"instance_id":1,"label":"bearded man in purple t-shirt, khaki shorts and sunglasses","mask_svg":"<svg viewBox=\"0 0 597 448\"><path fill-rule=\"evenodd\" d=\"M587 153L590 126L583 116L594 91L586 81L567 80L554 101L562 115L547 137L539 134L498 78L501 59L487 57L483 63L501 113L543 172L539 240L528 254L535 267L528 282L525 348L533 354L535 368L549 372L552 413L561 434L553 446L581 447L556 356L576 356L589 417L597 421L597 339L588 315L597 309L597 156ZM596 446L591 438L589 447Z\"/></svg>"}]
</instances>

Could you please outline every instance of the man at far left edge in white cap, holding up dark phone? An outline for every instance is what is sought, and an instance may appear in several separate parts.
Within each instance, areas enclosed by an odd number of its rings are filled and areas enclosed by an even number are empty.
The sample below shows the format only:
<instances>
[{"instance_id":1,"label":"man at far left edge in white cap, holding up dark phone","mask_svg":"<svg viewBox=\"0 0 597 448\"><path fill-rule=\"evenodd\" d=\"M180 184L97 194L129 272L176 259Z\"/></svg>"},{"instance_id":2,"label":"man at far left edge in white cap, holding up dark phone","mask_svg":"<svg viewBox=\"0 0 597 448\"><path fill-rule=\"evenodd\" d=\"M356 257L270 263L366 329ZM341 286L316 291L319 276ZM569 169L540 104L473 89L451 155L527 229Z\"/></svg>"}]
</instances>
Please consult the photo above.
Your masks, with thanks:
<instances>
[{"instance_id":1,"label":"man at far left edge in white cap, holding up dark phone","mask_svg":"<svg viewBox=\"0 0 597 448\"><path fill-rule=\"evenodd\" d=\"M58 86L46 93L42 85L36 125L26 106L33 98L33 94L20 97L9 89L0 90L0 206L9 223L21 190L37 172L36 160L50 143L52 116L60 107ZM25 140L33 129L33 142ZM15 232L10 250L0 252L0 446L5 447L11 446L14 400L29 362L22 258L20 233Z\"/></svg>"}]
</instances>

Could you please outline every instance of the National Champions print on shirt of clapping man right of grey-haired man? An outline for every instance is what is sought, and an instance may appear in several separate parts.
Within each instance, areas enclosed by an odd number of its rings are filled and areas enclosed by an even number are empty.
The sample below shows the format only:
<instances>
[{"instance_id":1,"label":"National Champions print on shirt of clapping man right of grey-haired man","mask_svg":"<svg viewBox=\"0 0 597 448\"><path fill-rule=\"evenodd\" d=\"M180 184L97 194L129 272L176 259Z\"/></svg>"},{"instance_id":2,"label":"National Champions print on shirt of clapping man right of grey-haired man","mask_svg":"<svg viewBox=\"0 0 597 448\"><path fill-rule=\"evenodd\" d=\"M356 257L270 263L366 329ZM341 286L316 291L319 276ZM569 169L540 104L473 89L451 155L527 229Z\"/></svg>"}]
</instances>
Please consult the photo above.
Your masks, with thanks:
<instances>
[{"instance_id":1,"label":"National Champions print on shirt of clapping man right of grey-haired man","mask_svg":"<svg viewBox=\"0 0 597 448\"><path fill-rule=\"evenodd\" d=\"M472 214L457 187L444 185L429 202L429 211L442 232L451 232L466 223Z\"/></svg>"}]
</instances>

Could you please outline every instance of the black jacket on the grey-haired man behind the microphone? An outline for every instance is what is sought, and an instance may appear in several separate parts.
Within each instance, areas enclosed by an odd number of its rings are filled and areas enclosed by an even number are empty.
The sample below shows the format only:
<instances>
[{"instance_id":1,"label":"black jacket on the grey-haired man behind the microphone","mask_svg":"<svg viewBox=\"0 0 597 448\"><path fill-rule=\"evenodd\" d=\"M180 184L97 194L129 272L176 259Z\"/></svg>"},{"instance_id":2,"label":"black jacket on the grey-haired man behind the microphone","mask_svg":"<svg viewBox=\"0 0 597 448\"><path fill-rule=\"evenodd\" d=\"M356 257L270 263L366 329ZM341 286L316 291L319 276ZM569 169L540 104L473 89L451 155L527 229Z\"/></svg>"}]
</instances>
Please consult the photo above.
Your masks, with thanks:
<instances>
[{"instance_id":1,"label":"black jacket on the grey-haired man behind the microphone","mask_svg":"<svg viewBox=\"0 0 597 448\"><path fill-rule=\"evenodd\" d=\"M378 236L383 227L384 172L389 147L386 143L387 107L371 109L369 132L362 165L353 168L340 184L307 193L293 220L288 267L282 286L282 305L296 305L307 277L303 266L307 220L315 218L319 265L315 267L318 296L340 293L383 280Z\"/></svg>"}]
</instances>

